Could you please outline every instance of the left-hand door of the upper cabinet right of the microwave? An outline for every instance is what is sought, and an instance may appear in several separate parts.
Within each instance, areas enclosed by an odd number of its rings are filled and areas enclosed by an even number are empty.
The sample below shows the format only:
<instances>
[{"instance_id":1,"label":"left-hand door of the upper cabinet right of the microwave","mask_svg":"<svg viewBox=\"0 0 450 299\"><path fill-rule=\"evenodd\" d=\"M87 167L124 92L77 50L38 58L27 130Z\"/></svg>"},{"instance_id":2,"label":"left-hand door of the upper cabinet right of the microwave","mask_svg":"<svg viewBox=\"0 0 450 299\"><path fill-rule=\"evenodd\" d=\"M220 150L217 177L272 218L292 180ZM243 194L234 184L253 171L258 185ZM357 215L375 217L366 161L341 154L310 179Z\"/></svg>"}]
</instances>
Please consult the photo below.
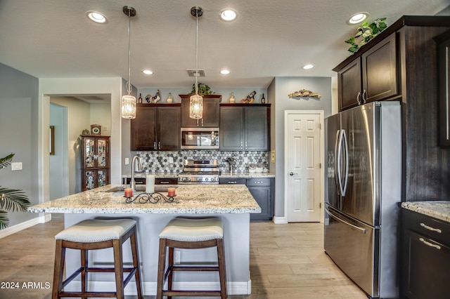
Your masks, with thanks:
<instances>
[{"instance_id":1,"label":"left-hand door of the upper cabinet right of the microwave","mask_svg":"<svg viewBox=\"0 0 450 299\"><path fill-rule=\"evenodd\" d=\"M220 108L220 150L243 150L243 107Z\"/></svg>"}]
</instances>

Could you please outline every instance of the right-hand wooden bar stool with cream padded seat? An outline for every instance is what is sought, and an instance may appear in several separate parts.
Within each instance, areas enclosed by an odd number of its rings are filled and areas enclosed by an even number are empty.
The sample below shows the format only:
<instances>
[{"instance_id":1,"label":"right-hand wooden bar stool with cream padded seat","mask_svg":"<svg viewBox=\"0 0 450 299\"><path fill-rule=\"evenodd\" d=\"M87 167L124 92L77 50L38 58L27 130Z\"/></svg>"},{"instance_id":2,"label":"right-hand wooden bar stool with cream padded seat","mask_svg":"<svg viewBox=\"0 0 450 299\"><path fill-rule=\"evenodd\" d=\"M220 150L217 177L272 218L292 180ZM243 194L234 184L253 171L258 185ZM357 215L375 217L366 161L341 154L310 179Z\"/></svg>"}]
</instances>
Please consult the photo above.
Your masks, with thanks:
<instances>
[{"instance_id":1,"label":"right-hand wooden bar stool with cream padded seat","mask_svg":"<svg viewBox=\"0 0 450 299\"><path fill-rule=\"evenodd\" d=\"M158 261L158 286L156 298L162 296L221 296L226 299L226 272L224 255L224 231L219 218L175 218L160 233L160 257ZM174 265L174 248L217 247L217 266ZM166 270L166 247L169 248L169 265ZM175 291L172 290L174 271L218 271L220 291ZM168 279L167 291L163 291Z\"/></svg>"}]
</instances>

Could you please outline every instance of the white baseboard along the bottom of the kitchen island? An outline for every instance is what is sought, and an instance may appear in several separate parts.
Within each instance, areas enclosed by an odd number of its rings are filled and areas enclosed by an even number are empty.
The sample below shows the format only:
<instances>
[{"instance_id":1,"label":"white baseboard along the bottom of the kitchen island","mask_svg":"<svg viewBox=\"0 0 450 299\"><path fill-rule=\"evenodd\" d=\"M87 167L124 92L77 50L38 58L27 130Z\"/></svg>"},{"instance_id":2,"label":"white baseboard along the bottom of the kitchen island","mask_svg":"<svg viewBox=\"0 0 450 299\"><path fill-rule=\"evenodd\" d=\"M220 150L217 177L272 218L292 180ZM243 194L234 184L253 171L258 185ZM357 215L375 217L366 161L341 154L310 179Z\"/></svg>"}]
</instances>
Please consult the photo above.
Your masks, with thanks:
<instances>
[{"instance_id":1,"label":"white baseboard along the bottom of the kitchen island","mask_svg":"<svg viewBox=\"0 0 450 299\"><path fill-rule=\"evenodd\" d=\"M156 282L144 281L142 284L143 295L156 295ZM174 281L172 287L175 290L184 291L215 291L220 289L218 281ZM65 287L65 291L79 291L81 289L80 281L72 281ZM89 281L88 289L91 291L114 290L114 281ZM226 292L228 295L250 295L252 293L252 281L229 281L226 283ZM125 288L125 295L137 295L136 284L130 281Z\"/></svg>"}]
</instances>

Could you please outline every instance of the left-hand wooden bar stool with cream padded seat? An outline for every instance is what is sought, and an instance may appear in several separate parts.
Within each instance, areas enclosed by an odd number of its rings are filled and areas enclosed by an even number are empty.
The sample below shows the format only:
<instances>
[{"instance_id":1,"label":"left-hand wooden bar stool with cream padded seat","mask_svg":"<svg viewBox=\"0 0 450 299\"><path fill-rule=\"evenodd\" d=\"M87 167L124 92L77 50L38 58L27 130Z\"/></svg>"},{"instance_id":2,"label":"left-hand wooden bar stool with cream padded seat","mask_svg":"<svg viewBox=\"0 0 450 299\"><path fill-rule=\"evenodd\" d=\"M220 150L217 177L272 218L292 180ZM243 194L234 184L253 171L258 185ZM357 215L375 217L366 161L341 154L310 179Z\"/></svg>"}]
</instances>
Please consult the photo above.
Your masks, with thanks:
<instances>
[{"instance_id":1,"label":"left-hand wooden bar stool with cream padded seat","mask_svg":"<svg viewBox=\"0 0 450 299\"><path fill-rule=\"evenodd\" d=\"M136 220L132 219L112 219L112 220L84 220L76 225L68 227L55 236L55 269L53 274L52 298L62 297L103 297L103 298L124 298L124 288L134 275L138 298L143 298L141 288L141 274L139 271L139 253L136 238ZM131 253L133 255L133 267L123 267L122 244L130 239ZM100 268L89 267L88 252L94 249L113 248L114 267ZM70 274L63 281L65 249L72 248L81 251L81 267ZM91 292L87 290L89 272L114 272L115 292ZM123 279L124 272L129 272L127 278ZM64 291L70 281L81 274L81 292Z\"/></svg>"}]
</instances>

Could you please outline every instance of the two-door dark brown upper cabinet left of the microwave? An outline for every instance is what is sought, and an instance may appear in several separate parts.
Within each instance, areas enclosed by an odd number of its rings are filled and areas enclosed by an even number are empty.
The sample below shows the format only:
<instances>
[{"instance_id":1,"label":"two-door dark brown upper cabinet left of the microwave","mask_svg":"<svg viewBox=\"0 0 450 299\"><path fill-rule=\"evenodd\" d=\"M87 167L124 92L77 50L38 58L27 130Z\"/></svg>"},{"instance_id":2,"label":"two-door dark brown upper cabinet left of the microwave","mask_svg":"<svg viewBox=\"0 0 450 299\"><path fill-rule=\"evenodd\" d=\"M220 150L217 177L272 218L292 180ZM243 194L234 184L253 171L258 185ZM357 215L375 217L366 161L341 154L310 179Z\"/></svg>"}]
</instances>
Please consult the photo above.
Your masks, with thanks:
<instances>
[{"instance_id":1,"label":"two-door dark brown upper cabinet left of the microwave","mask_svg":"<svg viewBox=\"0 0 450 299\"><path fill-rule=\"evenodd\" d=\"M180 104L137 104L131 150L179 150L180 128Z\"/></svg>"}]
</instances>

